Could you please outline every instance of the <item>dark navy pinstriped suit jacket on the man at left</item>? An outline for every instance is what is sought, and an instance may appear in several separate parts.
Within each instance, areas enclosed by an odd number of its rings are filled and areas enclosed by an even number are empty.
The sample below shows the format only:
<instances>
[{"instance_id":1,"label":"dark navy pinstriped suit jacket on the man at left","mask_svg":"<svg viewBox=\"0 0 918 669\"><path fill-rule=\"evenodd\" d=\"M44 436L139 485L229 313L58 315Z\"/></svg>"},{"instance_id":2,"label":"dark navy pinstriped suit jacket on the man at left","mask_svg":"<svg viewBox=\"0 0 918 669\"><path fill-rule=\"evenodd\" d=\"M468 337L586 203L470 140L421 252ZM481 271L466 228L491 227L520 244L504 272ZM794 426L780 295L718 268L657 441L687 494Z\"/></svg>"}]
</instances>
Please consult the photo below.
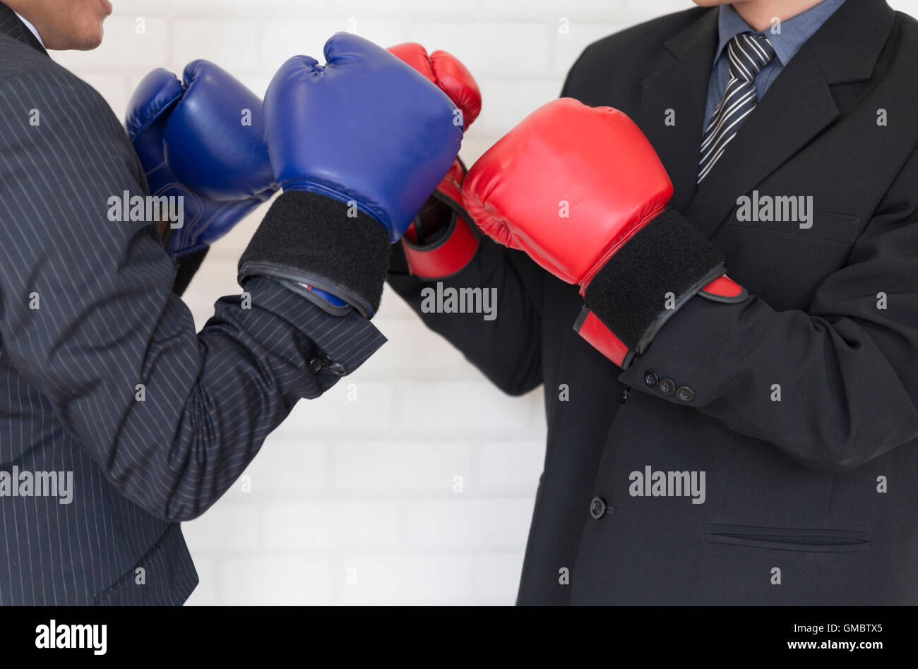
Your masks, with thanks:
<instances>
[{"instance_id":1,"label":"dark navy pinstriped suit jacket on the man at left","mask_svg":"<svg viewBox=\"0 0 918 669\"><path fill-rule=\"evenodd\" d=\"M0 4L0 604L185 601L179 521L338 380L311 359L353 371L385 341L263 277L196 333L154 227L106 217L146 188L102 97ZM29 488L52 472L69 503Z\"/></svg>"}]
</instances>

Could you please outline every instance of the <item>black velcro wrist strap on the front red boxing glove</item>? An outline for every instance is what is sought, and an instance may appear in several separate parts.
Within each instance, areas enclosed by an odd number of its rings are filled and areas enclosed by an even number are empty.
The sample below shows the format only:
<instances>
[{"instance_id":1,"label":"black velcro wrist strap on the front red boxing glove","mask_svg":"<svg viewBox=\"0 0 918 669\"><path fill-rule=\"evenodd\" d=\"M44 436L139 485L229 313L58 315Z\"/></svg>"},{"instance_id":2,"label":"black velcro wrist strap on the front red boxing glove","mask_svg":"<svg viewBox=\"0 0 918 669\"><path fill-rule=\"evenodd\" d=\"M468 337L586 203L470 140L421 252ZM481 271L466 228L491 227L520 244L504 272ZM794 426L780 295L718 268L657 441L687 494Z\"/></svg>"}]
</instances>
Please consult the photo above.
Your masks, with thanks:
<instances>
[{"instance_id":1,"label":"black velcro wrist strap on the front red boxing glove","mask_svg":"<svg viewBox=\"0 0 918 669\"><path fill-rule=\"evenodd\" d=\"M584 299L629 349L643 353L669 317L724 273L723 262L711 240L666 208L602 266Z\"/></svg>"}]
</instances>

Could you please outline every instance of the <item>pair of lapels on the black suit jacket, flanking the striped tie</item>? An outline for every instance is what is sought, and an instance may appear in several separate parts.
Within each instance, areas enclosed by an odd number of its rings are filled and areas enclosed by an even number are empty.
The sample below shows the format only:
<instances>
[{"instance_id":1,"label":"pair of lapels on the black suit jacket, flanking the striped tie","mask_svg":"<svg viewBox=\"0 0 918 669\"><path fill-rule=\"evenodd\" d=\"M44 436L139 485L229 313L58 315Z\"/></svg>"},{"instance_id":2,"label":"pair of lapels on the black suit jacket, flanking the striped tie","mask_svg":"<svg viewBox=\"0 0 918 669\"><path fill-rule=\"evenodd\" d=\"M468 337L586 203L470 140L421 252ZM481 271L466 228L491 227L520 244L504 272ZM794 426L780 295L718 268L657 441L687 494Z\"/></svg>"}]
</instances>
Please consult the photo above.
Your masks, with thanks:
<instances>
[{"instance_id":1,"label":"pair of lapels on the black suit jacket, flanking the striped tie","mask_svg":"<svg viewBox=\"0 0 918 669\"><path fill-rule=\"evenodd\" d=\"M717 10L666 41L671 61L642 84L640 124L673 182L672 205L708 235L748 194L838 117L834 84L866 81L895 19L885 0L847 0L778 75L696 187ZM666 109L676 125L663 123Z\"/></svg>"}]
</instances>

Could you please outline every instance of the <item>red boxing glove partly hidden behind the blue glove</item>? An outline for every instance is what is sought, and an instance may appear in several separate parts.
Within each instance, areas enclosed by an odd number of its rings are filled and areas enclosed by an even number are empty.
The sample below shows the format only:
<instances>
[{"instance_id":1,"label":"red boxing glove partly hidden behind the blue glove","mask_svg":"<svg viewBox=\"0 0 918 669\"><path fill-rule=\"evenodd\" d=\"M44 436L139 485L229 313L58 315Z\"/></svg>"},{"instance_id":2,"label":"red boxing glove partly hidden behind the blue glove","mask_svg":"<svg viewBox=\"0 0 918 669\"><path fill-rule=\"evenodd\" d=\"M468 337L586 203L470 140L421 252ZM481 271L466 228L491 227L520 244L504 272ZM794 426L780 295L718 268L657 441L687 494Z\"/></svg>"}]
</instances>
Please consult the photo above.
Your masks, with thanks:
<instances>
[{"instance_id":1,"label":"red boxing glove partly hidden behind the blue glove","mask_svg":"<svg viewBox=\"0 0 918 669\"><path fill-rule=\"evenodd\" d=\"M481 111L481 91L475 78L455 56L446 51L428 55L420 44L408 42L390 47L389 52L407 62L449 95L462 112L455 122L468 130ZM471 218L462 206L462 182L465 166L456 158L453 167L437 186L433 197L449 206L452 217L433 243L419 236L420 222L416 218L402 238L402 248L409 271L422 279L439 279L459 272L478 248L478 238ZM420 239L419 239L420 238Z\"/></svg>"}]
</instances>

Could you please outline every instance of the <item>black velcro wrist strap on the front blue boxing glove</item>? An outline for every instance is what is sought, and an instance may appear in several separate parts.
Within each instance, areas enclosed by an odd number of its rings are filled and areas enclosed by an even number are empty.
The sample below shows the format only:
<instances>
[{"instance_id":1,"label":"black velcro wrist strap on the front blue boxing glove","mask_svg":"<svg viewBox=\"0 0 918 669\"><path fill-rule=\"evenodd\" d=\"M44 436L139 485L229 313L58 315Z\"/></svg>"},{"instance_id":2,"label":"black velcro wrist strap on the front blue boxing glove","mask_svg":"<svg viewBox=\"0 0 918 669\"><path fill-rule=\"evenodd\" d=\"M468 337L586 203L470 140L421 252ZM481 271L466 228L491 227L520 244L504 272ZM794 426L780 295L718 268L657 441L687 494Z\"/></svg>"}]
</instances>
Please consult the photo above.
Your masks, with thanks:
<instances>
[{"instance_id":1,"label":"black velcro wrist strap on the front blue boxing glove","mask_svg":"<svg viewBox=\"0 0 918 669\"><path fill-rule=\"evenodd\" d=\"M314 285L369 317L379 308L388 264L389 235L374 217L324 195L288 191L242 253L239 281L271 276Z\"/></svg>"}]
</instances>

